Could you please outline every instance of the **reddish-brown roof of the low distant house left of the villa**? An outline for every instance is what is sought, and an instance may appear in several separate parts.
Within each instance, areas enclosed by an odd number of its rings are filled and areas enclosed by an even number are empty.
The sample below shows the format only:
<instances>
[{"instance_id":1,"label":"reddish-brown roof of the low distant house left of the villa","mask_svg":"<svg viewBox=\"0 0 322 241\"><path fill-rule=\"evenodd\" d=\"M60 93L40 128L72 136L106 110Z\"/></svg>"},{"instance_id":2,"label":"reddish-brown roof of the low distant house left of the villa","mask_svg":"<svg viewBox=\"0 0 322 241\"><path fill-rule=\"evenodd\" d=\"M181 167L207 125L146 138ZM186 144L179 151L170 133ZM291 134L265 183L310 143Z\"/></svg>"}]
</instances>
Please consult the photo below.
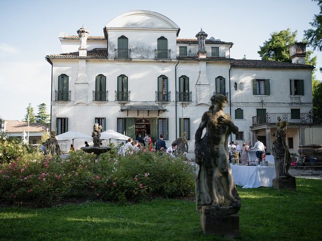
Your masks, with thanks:
<instances>
[{"instance_id":1,"label":"reddish-brown roof of the low distant house left of the villa","mask_svg":"<svg viewBox=\"0 0 322 241\"><path fill-rule=\"evenodd\" d=\"M30 123L29 132L46 132L49 127L40 123ZM28 132L28 123L22 121L6 121L6 132L23 133Z\"/></svg>"}]
</instances>

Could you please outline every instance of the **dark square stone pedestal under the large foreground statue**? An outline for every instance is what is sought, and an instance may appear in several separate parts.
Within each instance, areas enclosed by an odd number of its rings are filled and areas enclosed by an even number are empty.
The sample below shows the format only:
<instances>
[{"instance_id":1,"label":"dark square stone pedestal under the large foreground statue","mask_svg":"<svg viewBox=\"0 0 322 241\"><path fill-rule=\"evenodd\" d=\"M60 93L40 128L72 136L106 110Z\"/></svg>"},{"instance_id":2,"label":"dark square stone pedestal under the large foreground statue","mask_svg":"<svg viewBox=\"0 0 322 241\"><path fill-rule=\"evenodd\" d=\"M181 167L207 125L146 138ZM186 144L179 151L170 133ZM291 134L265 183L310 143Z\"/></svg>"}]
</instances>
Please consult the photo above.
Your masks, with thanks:
<instances>
[{"instance_id":1,"label":"dark square stone pedestal under the large foreground statue","mask_svg":"<svg viewBox=\"0 0 322 241\"><path fill-rule=\"evenodd\" d=\"M239 234L239 215L234 208L202 206L201 226L204 234L236 237Z\"/></svg>"}]
</instances>

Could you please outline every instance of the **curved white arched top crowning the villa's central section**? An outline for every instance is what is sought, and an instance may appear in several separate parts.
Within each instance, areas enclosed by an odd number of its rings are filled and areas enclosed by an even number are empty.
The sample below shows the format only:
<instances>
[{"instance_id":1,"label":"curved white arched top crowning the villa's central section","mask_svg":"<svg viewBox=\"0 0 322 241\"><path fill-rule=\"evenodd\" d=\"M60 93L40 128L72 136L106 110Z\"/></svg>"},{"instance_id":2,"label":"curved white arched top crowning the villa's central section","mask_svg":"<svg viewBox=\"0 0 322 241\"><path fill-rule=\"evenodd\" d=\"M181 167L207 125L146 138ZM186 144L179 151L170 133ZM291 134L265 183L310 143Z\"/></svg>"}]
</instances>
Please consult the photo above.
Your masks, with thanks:
<instances>
[{"instance_id":1,"label":"curved white arched top crowning the villa's central section","mask_svg":"<svg viewBox=\"0 0 322 241\"><path fill-rule=\"evenodd\" d=\"M148 29L174 29L179 27L172 20L162 14L152 11L135 10L124 13L106 26L109 28L148 28Z\"/></svg>"}]
</instances>

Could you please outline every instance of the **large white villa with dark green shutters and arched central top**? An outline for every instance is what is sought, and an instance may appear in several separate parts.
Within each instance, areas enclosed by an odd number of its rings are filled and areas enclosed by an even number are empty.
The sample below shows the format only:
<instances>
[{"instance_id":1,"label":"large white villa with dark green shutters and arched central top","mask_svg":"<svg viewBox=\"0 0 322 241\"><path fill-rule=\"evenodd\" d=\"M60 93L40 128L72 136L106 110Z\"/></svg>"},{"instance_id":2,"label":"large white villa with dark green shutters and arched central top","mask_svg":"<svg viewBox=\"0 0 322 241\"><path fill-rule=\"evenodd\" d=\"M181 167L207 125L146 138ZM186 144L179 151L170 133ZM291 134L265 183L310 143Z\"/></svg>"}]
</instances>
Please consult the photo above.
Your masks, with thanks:
<instances>
[{"instance_id":1,"label":"large white villa with dark green shutters and arched central top","mask_svg":"<svg viewBox=\"0 0 322 241\"><path fill-rule=\"evenodd\" d=\"M165 135L167 146L183 131L190 150L213 93L228 98L226 112L239 128L232 141L263 137L271 151L277 118L290 123L291 152L299 145L299 123L312 108L311 71L305 46L291 47L293 63L230 58L231 42L179 39L180 28L150 11L131 11L104 27L104 36L60 33L62 54L52 65L51 130L91 134L94 123L137 138ZM307 140L300 128L301 144ZM316 136L317 137L317 136ZM307 143L309 144L309 143ZM315 143L317 144L317 143Z\"/></svg>"}]
</instances>

